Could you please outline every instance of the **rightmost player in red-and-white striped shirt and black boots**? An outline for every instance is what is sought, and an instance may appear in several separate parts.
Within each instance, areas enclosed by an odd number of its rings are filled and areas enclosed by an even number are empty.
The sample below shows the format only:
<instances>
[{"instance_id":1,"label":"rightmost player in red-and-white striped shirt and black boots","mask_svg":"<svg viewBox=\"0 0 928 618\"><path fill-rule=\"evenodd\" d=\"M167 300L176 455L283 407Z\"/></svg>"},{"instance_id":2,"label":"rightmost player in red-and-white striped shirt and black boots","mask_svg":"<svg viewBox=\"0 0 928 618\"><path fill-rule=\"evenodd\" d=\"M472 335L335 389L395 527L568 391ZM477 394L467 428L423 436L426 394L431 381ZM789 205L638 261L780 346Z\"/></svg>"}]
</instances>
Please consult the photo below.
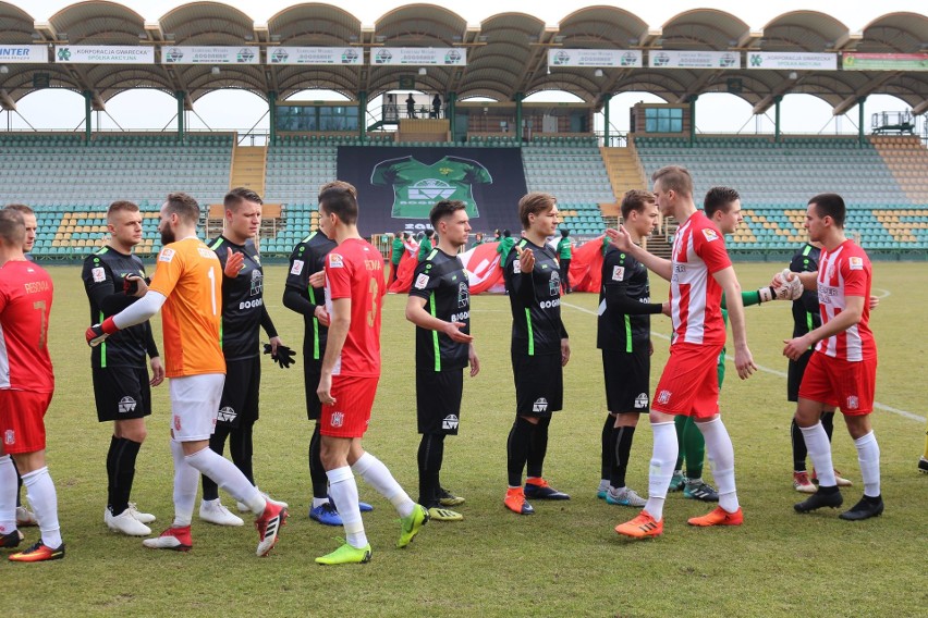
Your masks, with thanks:
<instances>
[{"instance_id":1,"label":"rightmost player in red-and-white striped shirt and black boots","mask_svg":"<svg viewBox=\"0 0 928 618\"><path fill-rule=\"evenodd\" d=\"M809 200L805 223L809 240L823 245L818 272L789 276L798 276L806 289L818 291L821 326L783 342L783 356L796 360L815 346L799 386L796 424L803 432L819 485L795 509L808 512L825 506L837 508L843 502L831 464L831 443L820 421L825 408L838 407L854 438L864 479L864 497L839 517L858 520L883 512L880 447L870 424L877 345L869 326L870 260L864 249L844 236L844 218L841 196L821 194Z\"/></svg>"}]
</instances>

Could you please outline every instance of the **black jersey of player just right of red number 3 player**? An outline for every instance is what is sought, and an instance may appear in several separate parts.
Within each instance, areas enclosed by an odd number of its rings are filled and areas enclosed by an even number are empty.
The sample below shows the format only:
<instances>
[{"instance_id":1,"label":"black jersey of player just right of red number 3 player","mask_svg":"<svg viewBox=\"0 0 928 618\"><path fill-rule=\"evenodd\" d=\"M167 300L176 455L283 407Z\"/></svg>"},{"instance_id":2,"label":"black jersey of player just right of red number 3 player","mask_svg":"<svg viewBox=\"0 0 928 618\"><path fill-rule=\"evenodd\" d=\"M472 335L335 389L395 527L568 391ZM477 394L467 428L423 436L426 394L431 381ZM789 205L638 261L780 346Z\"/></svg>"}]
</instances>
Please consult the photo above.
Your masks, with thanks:
<instances>
[{"instance_id":1,"label":"black jersey of player just right of red number 3 player","mask_svg":"<svg viewBox=\"0 0 928 618\"><path fill-rule=\"evenodd\" d=\"M471 332L471 286L457 256L441 249L429 251L416 265L410 296L424 298L425 309L432 318L463 322L461 332ZM416 369L463 369L468 363L468 344L455 342L444 333L416 326Z\"/></svg>"}]
</instances>

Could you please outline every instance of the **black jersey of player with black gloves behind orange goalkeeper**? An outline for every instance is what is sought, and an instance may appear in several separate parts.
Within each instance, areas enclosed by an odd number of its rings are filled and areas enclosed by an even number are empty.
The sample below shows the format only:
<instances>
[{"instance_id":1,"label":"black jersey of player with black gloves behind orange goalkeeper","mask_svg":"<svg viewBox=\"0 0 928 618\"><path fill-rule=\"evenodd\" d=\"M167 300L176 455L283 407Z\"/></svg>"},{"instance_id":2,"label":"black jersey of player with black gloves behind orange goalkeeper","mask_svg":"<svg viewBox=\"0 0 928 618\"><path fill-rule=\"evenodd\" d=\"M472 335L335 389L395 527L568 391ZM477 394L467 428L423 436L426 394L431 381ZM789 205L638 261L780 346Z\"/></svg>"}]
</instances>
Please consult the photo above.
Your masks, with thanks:
<instances>
[{"instance_id":1,"label":"black jersey of player with black gloves behind orange goalkeeper","mask_svg":"<svg viewBox=\"0 0 928 618\"><path fill-rule=\"evenodd\" d=\"M222 275L222 355L225 360L243 360L260 355L260 326L269 337L277 336L273 323L265 309L265 273L261 258L255 244L248 239L236 245L225 236L210 240L209 248L216 251L222 268L233 254L244 254L242 270L234 277Z\"/></svg>"}]
</instances>

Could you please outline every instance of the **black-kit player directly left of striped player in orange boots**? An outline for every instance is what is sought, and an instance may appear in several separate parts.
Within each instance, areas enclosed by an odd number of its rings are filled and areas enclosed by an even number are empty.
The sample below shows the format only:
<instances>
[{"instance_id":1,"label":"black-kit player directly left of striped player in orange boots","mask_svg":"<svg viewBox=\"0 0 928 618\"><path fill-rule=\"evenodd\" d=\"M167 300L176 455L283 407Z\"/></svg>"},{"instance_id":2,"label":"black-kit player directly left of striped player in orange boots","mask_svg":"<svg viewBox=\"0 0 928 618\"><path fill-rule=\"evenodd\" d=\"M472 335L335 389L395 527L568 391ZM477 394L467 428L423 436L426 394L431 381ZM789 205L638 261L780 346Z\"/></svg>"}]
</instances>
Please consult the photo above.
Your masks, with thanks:
<instances>
[{"instance_id":1,"label":"black-kit player directly left of striped player in orange boots","mask_svg":"<svg viewBox=\"0 0 928 618\"><path fill-rule=\"evenodd\" d=\"M630 190L622 198L622 221L634 243L657 226L658 208L648 191ZM650 411L650 316L661 304L650 301L648 269L612 245L602 259L596 347L602 350L606 404L602 425L602 470L597 497L621 506L645 506L625 485L625 472L638 417Z\"/></svg>"}]
</instances>

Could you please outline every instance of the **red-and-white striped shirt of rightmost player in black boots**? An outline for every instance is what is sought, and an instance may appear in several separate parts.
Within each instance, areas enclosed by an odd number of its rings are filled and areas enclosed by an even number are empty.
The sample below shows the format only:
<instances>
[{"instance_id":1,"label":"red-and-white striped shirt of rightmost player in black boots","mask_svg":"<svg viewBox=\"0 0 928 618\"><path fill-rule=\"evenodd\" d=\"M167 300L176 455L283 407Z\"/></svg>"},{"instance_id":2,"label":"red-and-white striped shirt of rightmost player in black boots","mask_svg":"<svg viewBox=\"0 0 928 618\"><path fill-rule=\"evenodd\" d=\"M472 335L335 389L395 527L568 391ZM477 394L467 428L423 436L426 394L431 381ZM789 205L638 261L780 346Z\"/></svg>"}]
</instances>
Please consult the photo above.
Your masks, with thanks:
<instances>
[{"instance_id":1,"label":"red-and-white striped shirt of rightmost player in black boots","mask_svg":"<svg viewBox=\"0 0 928 618\"><path fill-rule=\"evenodd\" d=\"M869 326L871 280L870 260L853 240L844 240L833 251L821 250L817 282L822 325L847 308L848 296L864 297L864 313L857 324L818 342L815 346L817 351L850 361L877 357L877 344Z\"/></svg>"}]
</instances>

